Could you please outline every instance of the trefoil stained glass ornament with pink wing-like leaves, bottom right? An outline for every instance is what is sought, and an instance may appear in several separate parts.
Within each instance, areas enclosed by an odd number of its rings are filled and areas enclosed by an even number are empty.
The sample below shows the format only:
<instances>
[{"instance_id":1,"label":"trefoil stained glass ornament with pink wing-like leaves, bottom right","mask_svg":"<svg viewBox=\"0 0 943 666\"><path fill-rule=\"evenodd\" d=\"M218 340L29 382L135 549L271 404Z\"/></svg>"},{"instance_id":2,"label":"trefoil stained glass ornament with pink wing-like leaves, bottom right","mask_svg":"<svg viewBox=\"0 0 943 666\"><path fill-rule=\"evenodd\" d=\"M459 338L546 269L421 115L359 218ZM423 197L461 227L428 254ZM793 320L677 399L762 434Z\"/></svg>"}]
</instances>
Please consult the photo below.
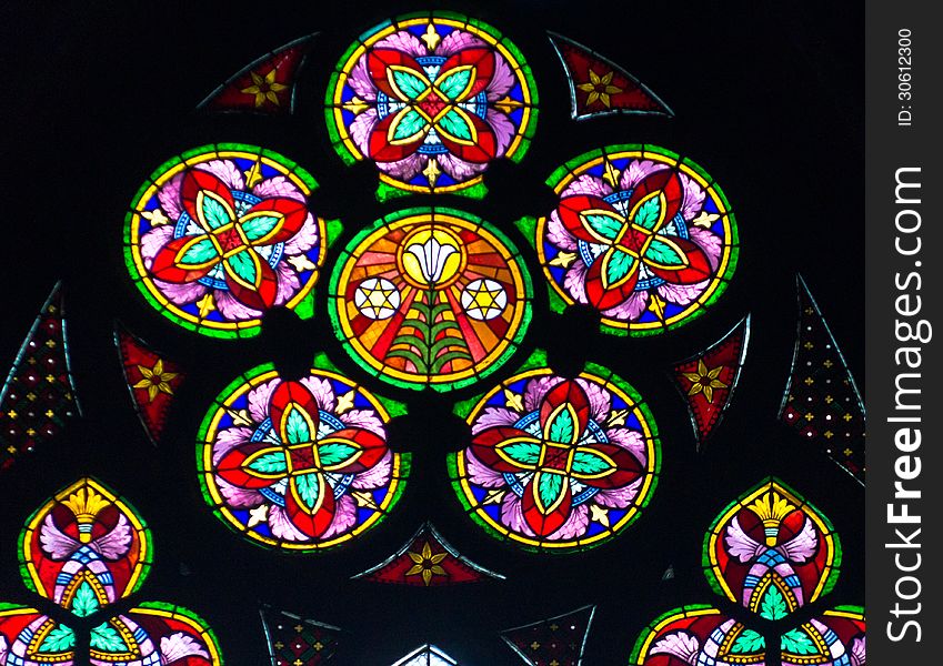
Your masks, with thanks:
<instances>
[{"instance_id":1,"label":"trefoil stained glass ornament with pink wing-like leaves, bottom right","mask_svg":"<svg viewBox=\"0 0 943 666\"><path fill-rule=\"evenodd\" d=\"M685 606L651 623L635 644L640 666L768 664L779 640L783 666L864 666L863 609L840 606L791 620L834 586L841 546L827 518L778 480L732 503L704 539L715 592L744 613Z\"/></svg>"}]
</instances>

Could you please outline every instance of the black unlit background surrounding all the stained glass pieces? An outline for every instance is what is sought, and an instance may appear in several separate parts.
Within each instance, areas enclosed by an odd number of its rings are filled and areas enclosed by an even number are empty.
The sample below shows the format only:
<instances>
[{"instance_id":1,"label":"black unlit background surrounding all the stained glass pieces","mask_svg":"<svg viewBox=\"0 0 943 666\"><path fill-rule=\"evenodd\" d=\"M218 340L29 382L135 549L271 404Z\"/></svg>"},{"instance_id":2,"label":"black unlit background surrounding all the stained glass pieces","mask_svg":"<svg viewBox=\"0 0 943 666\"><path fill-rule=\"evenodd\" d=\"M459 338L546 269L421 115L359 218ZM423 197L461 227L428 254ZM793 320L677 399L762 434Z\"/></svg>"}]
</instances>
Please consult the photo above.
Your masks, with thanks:
<instances>
[{"instance_id":1,"label":"black unlit background surrounding all the stained glass pieces","mask_svg":"<svg viewBox=\"0 0 943 666\"><path fill-rule=\"evenodd\" d=\"M525 350L483 385L447 395L368 386L407 400L410 414L392 445L413 452L402 502L377 528L335 552L289 556L231 533L197 484L193 437L213 396L240 372L274 360L290 370L327 351L363 379L330 332L325 284L312 321L278 313L261 336L213 341L164 320L127 275L121 230L147 175L179 151L215 141L257 143L305 167L321 184L315 210L339 216L344 234L412 196L379 204L369 164L344 168L330 148L322 100L328 77L355 36L422 6L403 2L12 3L2 29L2 198L0 364L57 279L66 284L72 365L83 418L0 476L0 601L38 604L17 574L16 541L27 516L52 493L92 474L122 493L150 523L157 562L132 598L167 601L203 616L232 666L261 665L260 602L349 632L339 665L382 666L422 643L462 665L519 663L496 632L584 604L599 608L586 644L589 666L624 664L643 627L682 604L729 608L700 569L713 517L736 495L776 474L835 524L844 545L841 581L824 606L864 602L863 488L776 421L795 335L795 273L825 313L853 373L864 374L863 336L863 18L861 6L772 1L705 4L579 2L431 3L476 16L526 56L540 91L534 144L519 165L498 163L483 201L441 196L488 219L524 250L536 292ZM545 30L575 39L639 77L676 118L570 119L569 90ZM297 114L285 119L205 117L193 108L249 61L320 31L303 71ZM711 312L653 339L599 333L590 317L558 317L535 256L513 220L542 214L543 185L565 160L609 143L651 142L685 154L725 190L738 215L741 262ZM665 374L746 312L753 339L732 406L706 451L696 454L684 402ZM131 408L112 325L184 364L183 385L160 447ZM633 526L601 547L570 556L526 554L486 536L462 515L444 454L467 442L451 402L508 376L542 346L561 372L590 360L644 395L662 435L663 473ZM402 588L349 577L399 548L431 519L472 561L506 582L443 589ZM669 565L676 577L662 581ZM44 607L44 606L39 606ZM81 623L69 622L78 627ZM772 662L772 660L771 660Z\"/></svg>"}]
</instances>

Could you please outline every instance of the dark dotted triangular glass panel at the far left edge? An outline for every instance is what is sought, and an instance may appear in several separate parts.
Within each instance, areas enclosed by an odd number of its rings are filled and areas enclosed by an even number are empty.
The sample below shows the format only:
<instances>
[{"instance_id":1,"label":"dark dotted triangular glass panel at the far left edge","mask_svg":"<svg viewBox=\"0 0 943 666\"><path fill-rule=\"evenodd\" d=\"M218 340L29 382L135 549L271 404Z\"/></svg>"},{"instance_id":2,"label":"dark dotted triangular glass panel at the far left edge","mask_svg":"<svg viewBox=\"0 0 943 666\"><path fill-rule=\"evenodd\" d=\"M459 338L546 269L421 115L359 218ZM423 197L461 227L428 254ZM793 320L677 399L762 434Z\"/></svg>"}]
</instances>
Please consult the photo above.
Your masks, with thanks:
<instances>
[{"instance_id":1,"label":"dark dotted triangular glass panel at the far left edge","mask_svg":"<svg viewBox=\"0 0 943 666\"><path fill-rule=\"evenodd\" d=\"M0 470L54 436L79 413L60 282L43 303L0 392Z\"/></svg>"}]
</instances>

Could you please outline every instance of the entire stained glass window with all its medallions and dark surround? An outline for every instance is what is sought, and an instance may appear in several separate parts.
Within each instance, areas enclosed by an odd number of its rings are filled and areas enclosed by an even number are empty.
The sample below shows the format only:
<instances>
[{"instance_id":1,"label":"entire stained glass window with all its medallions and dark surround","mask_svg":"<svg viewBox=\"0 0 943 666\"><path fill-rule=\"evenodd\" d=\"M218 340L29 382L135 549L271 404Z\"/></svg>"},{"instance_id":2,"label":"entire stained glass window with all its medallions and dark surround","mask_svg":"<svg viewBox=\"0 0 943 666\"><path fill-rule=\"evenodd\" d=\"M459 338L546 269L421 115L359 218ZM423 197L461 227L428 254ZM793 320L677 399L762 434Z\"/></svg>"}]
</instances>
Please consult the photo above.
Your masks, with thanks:
<instances>
[{"instance_id":1,"label":"entire stained glass window with all its medallions and dark surround","mask_svg":"<svg viewBox=\"0 0 943 666\"><path fill-rule=\"evenodd\" d=\"M19 4L0 666L864 663L854 12Z\"/></svg>"}]
</instances>

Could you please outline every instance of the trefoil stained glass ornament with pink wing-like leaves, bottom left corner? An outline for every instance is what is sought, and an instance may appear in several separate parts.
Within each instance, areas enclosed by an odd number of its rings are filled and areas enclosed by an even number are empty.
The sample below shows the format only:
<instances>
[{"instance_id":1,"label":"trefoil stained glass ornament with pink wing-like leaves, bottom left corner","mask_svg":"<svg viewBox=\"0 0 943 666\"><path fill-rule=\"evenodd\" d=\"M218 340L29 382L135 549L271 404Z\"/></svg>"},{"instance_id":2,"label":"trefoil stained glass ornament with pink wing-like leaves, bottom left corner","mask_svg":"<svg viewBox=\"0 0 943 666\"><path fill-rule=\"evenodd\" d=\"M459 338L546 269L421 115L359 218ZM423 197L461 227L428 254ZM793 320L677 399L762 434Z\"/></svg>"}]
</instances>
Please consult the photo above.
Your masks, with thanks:
<instances>
[{"instance_id":1,"label":"trefoil stained glass ornament with pink wing-like leaves, bottom left corner","mask_svg":"<svg viewBox=\"0 0 943 666\"><path fill-rule=\"evenodd\" d=\"M221 665L215 637L192 612L160 603L111 609L144 582L151 551L143 521L100 483L82 478L58 493L20 535L20 572L27 587L91 625L89 635L80 639L51 615L0 604L0 664L71 666L87 640L94 666Z\"/></svg>"}]
</instances>

